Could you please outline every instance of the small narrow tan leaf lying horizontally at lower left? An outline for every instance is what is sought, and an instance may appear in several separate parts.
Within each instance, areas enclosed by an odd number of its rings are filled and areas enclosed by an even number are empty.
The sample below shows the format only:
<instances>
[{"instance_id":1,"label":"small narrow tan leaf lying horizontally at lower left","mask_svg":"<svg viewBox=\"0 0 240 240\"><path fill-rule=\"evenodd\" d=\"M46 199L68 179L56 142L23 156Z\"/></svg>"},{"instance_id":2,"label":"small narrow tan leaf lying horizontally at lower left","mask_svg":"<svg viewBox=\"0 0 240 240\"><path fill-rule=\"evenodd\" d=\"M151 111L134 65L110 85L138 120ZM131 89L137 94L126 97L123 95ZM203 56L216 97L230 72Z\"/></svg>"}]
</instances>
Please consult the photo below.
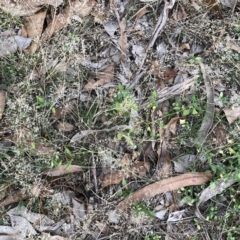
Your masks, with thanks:
<instances>
[{"instance_id":1,"label":"small narrow tan leaf lying horizontally at lower left","mask_svg":"<svg viewBox=\"0 0 240 240\"><path fill-rule=\"evenodd\" d=\"M53 169L47 169L43 172L43 175L47 175L49 177L58 177L69 173L82 172L83 169L78 165L70 165L66 167L65 165L61 165L59 167Z\"/></svg>"}]
</instances>

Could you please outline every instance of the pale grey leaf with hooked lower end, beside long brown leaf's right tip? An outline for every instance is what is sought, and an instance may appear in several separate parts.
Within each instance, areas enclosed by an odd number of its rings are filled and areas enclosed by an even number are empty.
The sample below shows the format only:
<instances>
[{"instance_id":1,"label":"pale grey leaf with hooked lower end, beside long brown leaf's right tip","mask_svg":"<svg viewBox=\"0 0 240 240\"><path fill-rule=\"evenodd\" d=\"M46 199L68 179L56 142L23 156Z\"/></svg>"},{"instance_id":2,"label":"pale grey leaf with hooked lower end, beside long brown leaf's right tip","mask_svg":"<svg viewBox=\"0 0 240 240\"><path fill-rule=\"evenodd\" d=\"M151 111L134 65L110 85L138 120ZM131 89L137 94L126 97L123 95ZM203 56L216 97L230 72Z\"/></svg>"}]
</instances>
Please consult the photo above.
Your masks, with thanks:
<instances>
[{"instance_id":1,"label":"pale grey leaf with hooked lower end, beside long brown leaf's right tip","mask_svg":"<svg viewBox=\"0 0 240 240\"><path fill-rule=\"evenodd\" d=\"M216 183L216 186L214 188L212 188L212 186L208 186L207 188L205 188L198 199L198 202L196 204L196 216L206 220L201 212L199 211L199 206L200 204L208 201L209 199L211 199L212 197L216 196L217 194L221 193L222 191L224 191L226 188L230 187L232 184L234 184L236 182L236 180L234 180L233 177L230 177L227 181L225 179L221 179L219 182Z\"/></svg>"}]
</instances>

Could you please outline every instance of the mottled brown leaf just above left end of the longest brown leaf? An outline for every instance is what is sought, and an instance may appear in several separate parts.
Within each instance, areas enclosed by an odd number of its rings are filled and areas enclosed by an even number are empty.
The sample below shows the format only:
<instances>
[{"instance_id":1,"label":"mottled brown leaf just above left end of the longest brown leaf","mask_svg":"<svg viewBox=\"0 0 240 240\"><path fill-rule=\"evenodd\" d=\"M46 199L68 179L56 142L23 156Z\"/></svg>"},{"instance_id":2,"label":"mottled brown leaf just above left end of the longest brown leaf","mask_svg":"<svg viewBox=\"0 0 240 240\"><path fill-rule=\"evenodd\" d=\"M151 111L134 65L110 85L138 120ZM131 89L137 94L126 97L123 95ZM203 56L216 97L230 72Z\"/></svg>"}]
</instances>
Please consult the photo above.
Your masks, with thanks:
<instances>
[{"instance_id":1,"label":"mottled brown leaf just above left end of the longest brown leaf","mask_svg":"<svg viewBox=\"0 0 240 240\"><path fill-rule=\"evenodd\" d=\"M136 176L143 177L146 175L146 171L149 171L149 169L149 162L136 161L131 167L125 170L119 170L104 176L102 188L112 184L119 184L124 178L134 178Z\"/></svg>"}]
</instances>

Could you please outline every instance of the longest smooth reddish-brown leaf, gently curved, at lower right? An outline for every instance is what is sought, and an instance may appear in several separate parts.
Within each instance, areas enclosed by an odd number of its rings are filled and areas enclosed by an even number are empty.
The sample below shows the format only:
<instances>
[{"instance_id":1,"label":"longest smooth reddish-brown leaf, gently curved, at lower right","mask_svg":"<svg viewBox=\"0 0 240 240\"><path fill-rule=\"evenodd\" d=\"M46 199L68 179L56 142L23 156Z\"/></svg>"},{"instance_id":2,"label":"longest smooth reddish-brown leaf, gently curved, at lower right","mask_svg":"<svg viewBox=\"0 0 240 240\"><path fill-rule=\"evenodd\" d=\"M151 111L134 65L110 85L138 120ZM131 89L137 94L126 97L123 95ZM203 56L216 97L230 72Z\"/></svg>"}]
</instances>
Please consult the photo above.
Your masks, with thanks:
<instances>
[{"instance_id":1,"label":"longest smooth reddish-brown leaf, gently curved, at lower right","mask_svg":"<svg viewBox=\"0 0 240 240\"><path fill-rule=\"evenodd\" d=\"M201 185L210 181L213 178L211 173L185 173L176 177L170 177L150 184L142 189L136 191L133 195L121 201L117 208L124 211L130 207L133 202L141 202L143 200L152 198L158 194L177 190L181 187Z\"/></svg>"}]
</instances>

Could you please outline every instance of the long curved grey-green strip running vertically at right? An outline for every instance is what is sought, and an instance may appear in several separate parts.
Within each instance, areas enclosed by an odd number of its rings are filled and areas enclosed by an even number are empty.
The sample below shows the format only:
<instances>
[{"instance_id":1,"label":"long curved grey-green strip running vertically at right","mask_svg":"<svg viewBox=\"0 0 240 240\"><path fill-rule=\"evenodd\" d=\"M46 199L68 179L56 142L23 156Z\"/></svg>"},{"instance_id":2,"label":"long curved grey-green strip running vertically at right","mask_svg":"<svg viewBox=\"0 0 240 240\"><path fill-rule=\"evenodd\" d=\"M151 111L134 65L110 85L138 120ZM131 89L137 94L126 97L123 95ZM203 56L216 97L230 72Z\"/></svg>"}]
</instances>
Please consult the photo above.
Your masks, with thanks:
<instances>
[{"instance_id":1,"label":"long curved grey-green strip running vertically at right","mask_svg":"<svg viewBox=\"0 0 240 240\"><path fill-rule=\"evenodd\" d=\"M212 126L213 123L213 117L214 117L214 91L211 84L211 81L209 77L206 75L205 67L203 63L200 63L201 72L203 74L203 79L206 87L207 92L207 108L205 115L203 117L202 125L200 129L198 130L198 135L193 141L194 146L199 146L199 144L202 146L205 142L208 132Z\"/></svg>"}]
</instances>

